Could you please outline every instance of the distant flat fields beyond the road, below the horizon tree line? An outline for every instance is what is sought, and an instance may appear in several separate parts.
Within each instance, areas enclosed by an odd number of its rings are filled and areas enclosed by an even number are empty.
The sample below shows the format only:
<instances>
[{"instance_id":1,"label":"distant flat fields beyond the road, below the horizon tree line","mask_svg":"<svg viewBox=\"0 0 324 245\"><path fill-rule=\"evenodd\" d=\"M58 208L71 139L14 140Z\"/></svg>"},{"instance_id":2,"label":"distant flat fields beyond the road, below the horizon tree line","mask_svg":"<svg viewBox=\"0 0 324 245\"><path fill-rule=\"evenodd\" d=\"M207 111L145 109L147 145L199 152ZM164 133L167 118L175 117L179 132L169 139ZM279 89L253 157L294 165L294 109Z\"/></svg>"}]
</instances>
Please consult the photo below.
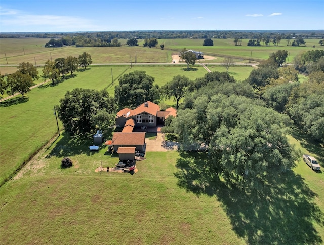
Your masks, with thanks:
<instances>
[{"instance_id":1,"label":"distant flat fields beyond the road, below the horizon tree line","mask_svg":"<svg viewBox=\"0 0 324 245\"><path fill-rule=\"evenodd\" d=\"M287 40L281 40L279 46L248 47L247 39L242 40L242 46L234 46L233 39L213 39L214 46L203 46L204 39L158 39L158 45L155 48L143 48L143 40L139 39L137 47L86 47L76 48L45 48L48 39L42 38L0 38L1 52L0 64L16 65L21 62L30 62L32 64L45 64L52 60L67 56L78 57L83 52L91 55L94 64L115 64L115 63L171 63L172 54L177 54L181 49L193 49L204 52L205 55L215 57L232 56L237 60L235 62L248 63L252 52L252 60L260 61L267 59L269 54L278 50L287 50L289 52L289 60L304 51L313 49L324 49L324 46L318 44L319 39L305 39L306 47L290 47L287 46ZM127 40L120 40L125 45ZM164 44L165 49L161 50L160 45ZM315 48L312 46L315 45ZM24 53L25 52L25 53ZM7 60L5 57L7 56ZM205 61L204 61L205 62ZM222 59L207 61L206 63L221 63Z\"/></svg>"}]
</instances>

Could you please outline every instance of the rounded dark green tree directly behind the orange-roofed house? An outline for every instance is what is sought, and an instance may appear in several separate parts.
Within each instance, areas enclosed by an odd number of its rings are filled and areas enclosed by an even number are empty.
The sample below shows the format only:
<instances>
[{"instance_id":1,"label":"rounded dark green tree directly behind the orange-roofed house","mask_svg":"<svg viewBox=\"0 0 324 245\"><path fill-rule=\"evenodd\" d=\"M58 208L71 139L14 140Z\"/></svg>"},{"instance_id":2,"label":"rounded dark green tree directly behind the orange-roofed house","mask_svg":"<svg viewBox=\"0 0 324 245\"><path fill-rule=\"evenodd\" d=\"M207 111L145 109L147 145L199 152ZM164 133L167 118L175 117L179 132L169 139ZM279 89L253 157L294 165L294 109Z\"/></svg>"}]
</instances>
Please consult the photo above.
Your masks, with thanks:
<instances>
[{"instance_id":1,"label":"rounded dark green tree directly behind the orange-roofed house","mask_svg":"<svg viewBox=\"0 0 324 245\"><path fill-rule=\"evenodd\" d=\"M157 102L160 99L159 87L153 85L154 77L145 71L134 71L119 78L115 87L115 101L119 108L136 106L145 101Z\"/></svg>"}]
</instances>

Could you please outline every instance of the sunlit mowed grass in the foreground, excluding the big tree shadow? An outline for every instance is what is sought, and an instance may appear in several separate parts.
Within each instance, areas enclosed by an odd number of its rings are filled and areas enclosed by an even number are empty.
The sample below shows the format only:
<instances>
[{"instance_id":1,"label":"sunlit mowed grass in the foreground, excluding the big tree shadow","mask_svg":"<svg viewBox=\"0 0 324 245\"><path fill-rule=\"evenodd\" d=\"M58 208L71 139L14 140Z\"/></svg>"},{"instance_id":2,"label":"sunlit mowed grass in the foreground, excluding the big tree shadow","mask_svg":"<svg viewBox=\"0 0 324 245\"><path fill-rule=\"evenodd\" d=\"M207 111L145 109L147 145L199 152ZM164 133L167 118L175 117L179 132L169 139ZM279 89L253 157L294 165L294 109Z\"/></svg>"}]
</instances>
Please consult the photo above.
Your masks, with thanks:
<instances>
[{"instance_id":1,"label":"sunlit mowed grass in the foreground, excluding the big tree shadow","mask_svg":"<svg viewBox=\"0 0 324 245\"><path fill-rule=\"evenodd\" d=\"M176 185L177 156L150 152L134 175L92 169L88 176L47 162L45 173L26 174L0 189L0 242L243 244L214 197ZM97 156L80 157L75 169L89 168Z\"/></svg>"}]
</instances>

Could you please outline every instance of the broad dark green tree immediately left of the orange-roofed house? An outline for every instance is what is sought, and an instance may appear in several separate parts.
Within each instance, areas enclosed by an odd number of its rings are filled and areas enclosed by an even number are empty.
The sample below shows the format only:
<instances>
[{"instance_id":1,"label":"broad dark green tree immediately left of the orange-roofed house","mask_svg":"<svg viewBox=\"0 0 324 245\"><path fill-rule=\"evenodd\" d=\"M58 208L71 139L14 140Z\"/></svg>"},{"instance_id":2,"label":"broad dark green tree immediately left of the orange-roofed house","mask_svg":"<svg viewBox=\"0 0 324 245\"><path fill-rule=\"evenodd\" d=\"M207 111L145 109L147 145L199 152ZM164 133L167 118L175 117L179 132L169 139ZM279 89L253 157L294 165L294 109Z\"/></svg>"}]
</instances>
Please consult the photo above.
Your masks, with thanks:
<instances>
[{"instance_id":1,"label":"broad dark green tree immediately left of the orange-roofed house","mask_svg":"<svg viewBox=\"0 0 324 245\"><path fill-rule=\"evenodd\" d=\"M64 129L71 134L107 130L114 124L116 105L106 90L76 88L67 91L57 106Z\"/></svg>"}]
</instances>

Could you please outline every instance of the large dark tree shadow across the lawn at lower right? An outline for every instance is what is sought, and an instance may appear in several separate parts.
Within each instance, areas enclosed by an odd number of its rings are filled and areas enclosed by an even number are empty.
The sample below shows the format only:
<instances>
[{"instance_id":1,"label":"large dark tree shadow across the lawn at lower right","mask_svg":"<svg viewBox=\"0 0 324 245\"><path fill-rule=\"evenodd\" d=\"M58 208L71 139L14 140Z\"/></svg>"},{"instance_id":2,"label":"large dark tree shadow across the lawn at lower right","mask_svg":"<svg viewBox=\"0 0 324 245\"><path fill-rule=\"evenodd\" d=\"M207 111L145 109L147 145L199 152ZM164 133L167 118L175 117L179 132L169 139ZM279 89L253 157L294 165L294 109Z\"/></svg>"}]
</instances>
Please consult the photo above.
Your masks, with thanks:
<instances>
[{"instance_id":1,"label":"large dark tree shadow across the lawn at lower right","mask_svg":"<svg viewBox=\"0 0 324 245\"><path fill-rule=\"evenodd\" d=\"M264 190L249 193L225 185L208 169L206 153L181 153L178 185L196 195L216 196L232 229L248 244L320 244L314 224L324 226L317 196L293 171L266 181Z\"/></svg>"}]
</instances>

